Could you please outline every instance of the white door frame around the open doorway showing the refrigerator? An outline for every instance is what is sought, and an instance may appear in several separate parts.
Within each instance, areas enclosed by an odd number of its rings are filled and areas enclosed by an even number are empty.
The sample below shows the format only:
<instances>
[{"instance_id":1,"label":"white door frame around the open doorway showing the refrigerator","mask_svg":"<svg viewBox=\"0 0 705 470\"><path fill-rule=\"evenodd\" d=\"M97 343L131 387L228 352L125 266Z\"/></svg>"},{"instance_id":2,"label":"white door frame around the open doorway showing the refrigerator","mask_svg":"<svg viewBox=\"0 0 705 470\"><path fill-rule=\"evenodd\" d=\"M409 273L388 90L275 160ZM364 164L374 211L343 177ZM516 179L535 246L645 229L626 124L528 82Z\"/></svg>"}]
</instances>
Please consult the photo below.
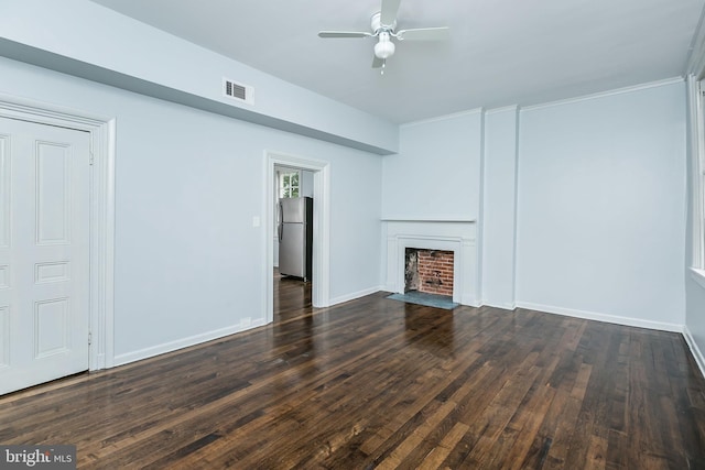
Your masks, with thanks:
<instances>
[{"instance_id":1,"label":"white door frame around the open doorway showing the refrigerator","mask_svg":"<svg viewBox=\"0 0 705 470\"><path fill-rule=\"evenodd\" d=\"M263 273L265 306L264 320L274 320L274 166L313 172L313 283L311 298L314 307L330 305L330 164L275 151L264 151L264 253Z\"/></svg>"}]
</instances>

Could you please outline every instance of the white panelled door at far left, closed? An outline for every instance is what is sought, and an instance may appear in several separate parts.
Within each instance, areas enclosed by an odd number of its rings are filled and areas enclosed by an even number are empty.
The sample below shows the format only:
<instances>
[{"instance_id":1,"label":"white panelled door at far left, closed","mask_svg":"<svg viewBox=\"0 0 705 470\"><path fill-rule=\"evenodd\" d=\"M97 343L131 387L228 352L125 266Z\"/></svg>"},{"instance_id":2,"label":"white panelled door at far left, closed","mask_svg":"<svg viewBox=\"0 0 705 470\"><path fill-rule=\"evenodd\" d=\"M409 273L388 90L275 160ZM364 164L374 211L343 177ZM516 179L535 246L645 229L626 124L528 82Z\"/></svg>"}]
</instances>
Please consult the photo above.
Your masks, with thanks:
<instances>
[{"instance_id":1,"label":"white panelled door at far left, closed","mask_svg":"<svg viewBox=\"0 0 705 470\"><path fill-rule=\"evenodd\" d=\"M88 132L0 118L0 394L88 369Z\"/></svg>"}]
</instances>

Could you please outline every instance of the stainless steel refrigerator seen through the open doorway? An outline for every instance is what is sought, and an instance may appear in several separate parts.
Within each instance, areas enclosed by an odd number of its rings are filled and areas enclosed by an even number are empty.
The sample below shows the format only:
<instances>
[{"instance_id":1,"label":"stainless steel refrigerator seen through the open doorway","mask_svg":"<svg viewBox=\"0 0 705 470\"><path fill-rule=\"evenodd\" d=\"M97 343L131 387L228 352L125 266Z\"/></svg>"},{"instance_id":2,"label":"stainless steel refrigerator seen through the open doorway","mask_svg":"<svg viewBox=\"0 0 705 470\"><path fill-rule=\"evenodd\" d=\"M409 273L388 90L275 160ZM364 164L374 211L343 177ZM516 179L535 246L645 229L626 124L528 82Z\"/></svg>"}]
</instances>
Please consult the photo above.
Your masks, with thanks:
<instances>
[{"instance_id":1,"label":"stainless steel refrigerator seen through the open doorway","mask_svg":"<svg viewBox=\"0 0 705 470\"><path fill-rule=\"evenodd\" d=\"M311 281L313 199L279 199L279 273Z\"/></svg>"}]
</instances>

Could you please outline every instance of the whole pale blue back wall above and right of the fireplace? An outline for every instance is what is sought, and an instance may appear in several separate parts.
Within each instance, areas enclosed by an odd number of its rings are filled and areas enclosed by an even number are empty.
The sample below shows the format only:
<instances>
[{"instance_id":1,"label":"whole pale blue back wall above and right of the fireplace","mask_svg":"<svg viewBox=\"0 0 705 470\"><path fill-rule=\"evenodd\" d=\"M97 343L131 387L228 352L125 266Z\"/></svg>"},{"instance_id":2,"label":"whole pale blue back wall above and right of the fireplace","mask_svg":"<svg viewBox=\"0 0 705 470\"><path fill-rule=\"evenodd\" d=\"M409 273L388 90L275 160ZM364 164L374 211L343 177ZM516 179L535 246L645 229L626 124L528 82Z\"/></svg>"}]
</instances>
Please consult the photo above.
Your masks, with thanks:
<instances>
[{"instance_id":1,"label":"whole pale blue back wall above and right of the fireplace","mask_svg":"<svg viewBox=\"0 0 705 470\"><path fill-rule=\"evenodd\" d=\"M400 154L383 159L382 214L479 216L482 303L682 330L682 81L469 112L400 135ZM688 289L690 311L702 297ZM688 323L704 335L705 316Z\"/></svg>"}]
</instances>

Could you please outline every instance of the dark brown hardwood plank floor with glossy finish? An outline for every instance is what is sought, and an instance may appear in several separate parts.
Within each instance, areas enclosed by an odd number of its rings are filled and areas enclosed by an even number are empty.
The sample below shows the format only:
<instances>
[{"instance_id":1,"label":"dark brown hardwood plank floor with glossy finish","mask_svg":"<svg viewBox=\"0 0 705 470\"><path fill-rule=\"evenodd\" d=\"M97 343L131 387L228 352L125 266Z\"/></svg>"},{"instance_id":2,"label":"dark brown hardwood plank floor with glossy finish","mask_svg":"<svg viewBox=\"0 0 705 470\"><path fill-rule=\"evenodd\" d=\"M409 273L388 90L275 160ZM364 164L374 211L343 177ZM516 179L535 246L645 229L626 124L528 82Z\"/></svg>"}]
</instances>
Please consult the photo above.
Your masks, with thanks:
<instances>
[{"instance_id":1,"label":"dark brown hardwood plank floor with glossy finish","mask_svg":"<svg viewBox=\"0 0 705 470\"><path fill-rule=\"evenodd\" d=\"M680 335L275 285L271 326L0 397L0 442L107 469L705 468Z\"/></svg>"}]
</instances>

